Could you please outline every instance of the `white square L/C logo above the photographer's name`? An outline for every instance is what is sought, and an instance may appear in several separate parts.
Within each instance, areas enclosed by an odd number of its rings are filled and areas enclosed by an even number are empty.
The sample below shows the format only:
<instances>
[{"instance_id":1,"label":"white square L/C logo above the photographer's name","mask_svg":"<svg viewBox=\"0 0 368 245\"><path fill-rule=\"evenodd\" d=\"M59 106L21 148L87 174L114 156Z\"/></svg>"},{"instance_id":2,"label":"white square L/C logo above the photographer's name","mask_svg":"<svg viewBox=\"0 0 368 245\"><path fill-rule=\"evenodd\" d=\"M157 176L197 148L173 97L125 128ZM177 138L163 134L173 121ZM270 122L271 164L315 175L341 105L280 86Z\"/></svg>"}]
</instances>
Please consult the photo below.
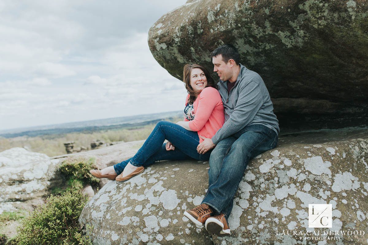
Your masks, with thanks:
<instances>
[{"instance_id":1,"label":"white square L/C logo above the photographer's name","mask_svg":"<svg viewBox=\"0 0 368 245\"><path fill-rule=\"evenodd\" d=\"M332 204L309 204L309 228L332 228Z\"/></svg>"}]
</instances>

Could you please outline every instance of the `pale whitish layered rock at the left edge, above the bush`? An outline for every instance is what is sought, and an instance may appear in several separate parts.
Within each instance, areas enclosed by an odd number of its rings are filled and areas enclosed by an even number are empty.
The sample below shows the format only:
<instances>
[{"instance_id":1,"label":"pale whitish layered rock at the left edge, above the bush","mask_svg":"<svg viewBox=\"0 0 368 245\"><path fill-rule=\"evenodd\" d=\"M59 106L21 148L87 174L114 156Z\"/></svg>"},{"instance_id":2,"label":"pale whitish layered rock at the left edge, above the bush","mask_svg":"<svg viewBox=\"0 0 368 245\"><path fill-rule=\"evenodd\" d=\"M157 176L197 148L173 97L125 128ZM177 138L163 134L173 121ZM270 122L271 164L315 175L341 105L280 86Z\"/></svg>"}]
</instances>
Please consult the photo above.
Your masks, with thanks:
<instances>
[{"instance_id":1,"label":"pale whitish layered rock at the left edge, above the bush","mask_svg":"<svg viewBox=\"0 0 368 245\"><path fill-rule=\"evenodd\" d=\"M0 152L0 214L43 203L59 162L20 147Z\"/></svg>"}]
</instances>

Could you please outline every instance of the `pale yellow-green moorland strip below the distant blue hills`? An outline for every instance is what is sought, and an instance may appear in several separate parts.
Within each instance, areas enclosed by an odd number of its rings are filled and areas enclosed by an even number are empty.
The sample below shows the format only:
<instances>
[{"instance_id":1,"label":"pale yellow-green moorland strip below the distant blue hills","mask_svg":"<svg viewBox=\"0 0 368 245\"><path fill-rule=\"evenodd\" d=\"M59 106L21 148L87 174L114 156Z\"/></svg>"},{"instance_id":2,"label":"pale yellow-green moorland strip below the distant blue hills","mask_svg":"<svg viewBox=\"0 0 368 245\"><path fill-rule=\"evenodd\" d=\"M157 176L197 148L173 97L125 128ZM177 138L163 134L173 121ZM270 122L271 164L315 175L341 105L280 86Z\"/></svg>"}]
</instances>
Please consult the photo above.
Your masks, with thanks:
<instances>
[{"instance_id":1,"label":"pale yellow-green moorland strip below the distant blue hills","mask_svg":"<svg viewBox=\"0 0 368 245\"><path fill-rule=\"evenodd\" d=\"M177 122L179 118L171 118L170 121ZM93 140L102 140L106 143L117 141L145 140L155 127L155 123L140 127L129 127L124 129L99 130L88 133L49 134L36 137L0 137L0 152L13 147L25 147L30 151L45 153L48 156L67 154L64 143L74 141L74 147L81 146L91 148Z\"/></svg>"}]
</instances>

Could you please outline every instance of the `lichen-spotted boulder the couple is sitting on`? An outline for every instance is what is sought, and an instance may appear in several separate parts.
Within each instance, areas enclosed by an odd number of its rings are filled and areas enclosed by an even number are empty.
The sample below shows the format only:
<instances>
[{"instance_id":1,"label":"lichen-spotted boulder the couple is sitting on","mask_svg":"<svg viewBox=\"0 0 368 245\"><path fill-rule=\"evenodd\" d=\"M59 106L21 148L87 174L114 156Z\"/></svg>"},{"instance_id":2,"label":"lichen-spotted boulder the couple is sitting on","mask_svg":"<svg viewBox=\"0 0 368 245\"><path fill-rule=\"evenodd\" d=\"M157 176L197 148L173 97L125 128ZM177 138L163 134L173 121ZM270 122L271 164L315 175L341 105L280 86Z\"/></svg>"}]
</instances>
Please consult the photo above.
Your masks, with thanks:
<instances>
[{"instance_id":1,"label":"lichen-spotted boulder the couple is sitting on","mask_svg":"<svg viewBox=\"0 0 368 245\"><path fill-rule=\"evenodd\" d=\"M317 244L303 241L313 237L307 231L363 231L318 244L367 243L367 128L292 134L279 142L248 165L229 217L231 237L212 237L183 216L204 198L207 162L160 162L124 183L109 181L79 222L93 226L87 230L95 245ZM332 228L308 228L308 205L318 203L332 205Z\"/></svg>"}]
</instances>

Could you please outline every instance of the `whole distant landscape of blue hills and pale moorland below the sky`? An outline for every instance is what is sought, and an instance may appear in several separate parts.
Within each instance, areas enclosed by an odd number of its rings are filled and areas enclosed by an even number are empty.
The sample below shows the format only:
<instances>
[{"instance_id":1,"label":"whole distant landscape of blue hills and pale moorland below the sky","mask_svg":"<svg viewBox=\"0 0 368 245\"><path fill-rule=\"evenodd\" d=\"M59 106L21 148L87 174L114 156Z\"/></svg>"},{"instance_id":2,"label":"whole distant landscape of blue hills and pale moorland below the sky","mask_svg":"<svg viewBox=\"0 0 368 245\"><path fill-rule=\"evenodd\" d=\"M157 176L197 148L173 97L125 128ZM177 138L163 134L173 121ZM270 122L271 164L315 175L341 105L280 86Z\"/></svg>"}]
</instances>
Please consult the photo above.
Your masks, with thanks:
<instances>
[{"instance_id":1,"label":"whole distant landscape of blue hills and pale moorland below the sky","mask_svg":"<svg viewBox=\"0 0 368 245\"><path fill-rule=\"evenodd\" d=\"M183 112L164 112L45 125L23 129L0 131L0 152L13 147L24 147L29 151L48 156L66 154L64 143L74 141L75 147L91 149L95 140L105 143L144 140L160 120L177 122L183 120Z\"/></svg>"}]
</instances>

